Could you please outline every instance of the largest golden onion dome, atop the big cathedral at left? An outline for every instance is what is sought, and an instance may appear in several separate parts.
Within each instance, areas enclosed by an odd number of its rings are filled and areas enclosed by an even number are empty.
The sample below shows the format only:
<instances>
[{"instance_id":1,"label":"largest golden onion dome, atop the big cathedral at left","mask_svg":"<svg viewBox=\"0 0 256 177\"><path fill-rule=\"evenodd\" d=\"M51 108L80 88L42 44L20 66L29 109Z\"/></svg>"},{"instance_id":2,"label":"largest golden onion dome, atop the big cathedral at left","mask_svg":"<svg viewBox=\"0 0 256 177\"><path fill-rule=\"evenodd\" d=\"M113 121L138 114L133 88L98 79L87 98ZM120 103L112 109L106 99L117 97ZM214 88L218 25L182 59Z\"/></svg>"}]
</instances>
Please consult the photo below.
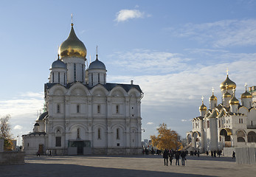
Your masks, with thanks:
<instances>
[{"instance_id":1,"label":"largest golden onion dome, atop the big cathedral at left","mask_svg":"<svg viewBox=\"0 0 256 177\"><path fill-rule=\"evenodd\" d=\"M86 46L82 41L79 40L79 38L77 38L77 35L75 35L73 24L71 24L71 26L69 38L67 38L66 41L63 41L59 47L58 53L60 55L60 59L63 57L77 57L86 59Z\"/></svg>"}]
</instances>

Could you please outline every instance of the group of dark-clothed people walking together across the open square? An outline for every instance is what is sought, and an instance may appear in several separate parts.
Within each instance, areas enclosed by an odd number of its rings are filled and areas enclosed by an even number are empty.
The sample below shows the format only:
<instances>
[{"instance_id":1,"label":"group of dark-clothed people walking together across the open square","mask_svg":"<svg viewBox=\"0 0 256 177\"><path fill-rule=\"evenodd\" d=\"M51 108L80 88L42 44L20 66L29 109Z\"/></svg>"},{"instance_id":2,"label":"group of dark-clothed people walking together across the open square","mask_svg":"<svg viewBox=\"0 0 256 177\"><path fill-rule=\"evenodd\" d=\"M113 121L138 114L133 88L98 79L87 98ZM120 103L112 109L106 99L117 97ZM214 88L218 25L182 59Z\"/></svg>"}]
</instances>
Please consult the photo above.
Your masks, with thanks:
<instances>
[{"instance_id":1,"label":"group of dark-clothed people walking together across the open square","mask_svg":"<svg viewBox=\"0 0 256 177\"><path fill-rule=\"evenodd\" d=\"M170 160L170 165L173 164L173 157L176 159L176 165L179 165L179 159L181 158L181 165L185 166L185 160L187 156L187 151L181 150L167 150L163 152L163 158L165 165L168 166L168 161Z\"/></svg>"}]
</instances>

